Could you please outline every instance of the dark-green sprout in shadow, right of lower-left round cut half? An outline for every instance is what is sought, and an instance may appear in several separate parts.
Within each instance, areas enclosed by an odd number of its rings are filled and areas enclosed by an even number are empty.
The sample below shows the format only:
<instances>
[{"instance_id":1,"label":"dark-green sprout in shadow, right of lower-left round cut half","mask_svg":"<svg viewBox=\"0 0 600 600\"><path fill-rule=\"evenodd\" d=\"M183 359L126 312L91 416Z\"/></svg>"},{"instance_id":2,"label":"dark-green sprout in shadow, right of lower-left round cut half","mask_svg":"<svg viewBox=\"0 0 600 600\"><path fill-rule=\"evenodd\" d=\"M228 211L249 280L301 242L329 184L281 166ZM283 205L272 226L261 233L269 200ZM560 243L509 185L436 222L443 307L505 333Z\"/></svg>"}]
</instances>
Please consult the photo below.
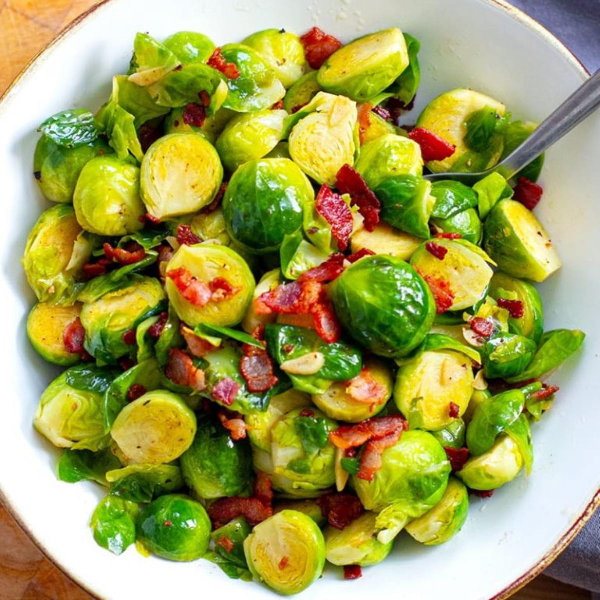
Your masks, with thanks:
<instances>
[{"instance_id":1,"label":"dark-green sprout in shadow, right of lower-left round cut half","mask_svg":"<svg viewBox=\"0 0 600 600\"><path fill-rule=\"evenodd\" d=\"M221 424L205 417L181 457L181 470L188 487L203 500L243 496L251 488L250 448L244 440L233 442Z\"/></svg>"}]
</instances>

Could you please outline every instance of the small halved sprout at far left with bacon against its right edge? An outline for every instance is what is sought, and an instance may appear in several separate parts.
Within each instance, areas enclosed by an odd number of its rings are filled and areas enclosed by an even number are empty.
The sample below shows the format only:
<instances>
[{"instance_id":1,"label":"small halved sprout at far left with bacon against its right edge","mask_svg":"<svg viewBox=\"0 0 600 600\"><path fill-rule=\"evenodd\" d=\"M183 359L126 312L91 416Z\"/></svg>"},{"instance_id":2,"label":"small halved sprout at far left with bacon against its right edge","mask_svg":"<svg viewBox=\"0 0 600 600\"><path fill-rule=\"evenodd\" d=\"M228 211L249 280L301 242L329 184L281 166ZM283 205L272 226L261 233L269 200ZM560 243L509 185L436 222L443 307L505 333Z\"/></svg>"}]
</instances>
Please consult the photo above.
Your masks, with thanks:
<instances>
[{"instance_id":1,"label":"small halved sprout at far left with bacon against its right edge","mask_svg":"<svg viewBox=\"0 0 600 600\"><path fill-rule=\"evenodd\" d=\"M27 335L31 345L48 362L61 367L70 367L81 360L80 354L73 354L65 346L65 329L81 313L81 305L53 306L39 302L29 313Z\"/></svg>"}]
</instances>

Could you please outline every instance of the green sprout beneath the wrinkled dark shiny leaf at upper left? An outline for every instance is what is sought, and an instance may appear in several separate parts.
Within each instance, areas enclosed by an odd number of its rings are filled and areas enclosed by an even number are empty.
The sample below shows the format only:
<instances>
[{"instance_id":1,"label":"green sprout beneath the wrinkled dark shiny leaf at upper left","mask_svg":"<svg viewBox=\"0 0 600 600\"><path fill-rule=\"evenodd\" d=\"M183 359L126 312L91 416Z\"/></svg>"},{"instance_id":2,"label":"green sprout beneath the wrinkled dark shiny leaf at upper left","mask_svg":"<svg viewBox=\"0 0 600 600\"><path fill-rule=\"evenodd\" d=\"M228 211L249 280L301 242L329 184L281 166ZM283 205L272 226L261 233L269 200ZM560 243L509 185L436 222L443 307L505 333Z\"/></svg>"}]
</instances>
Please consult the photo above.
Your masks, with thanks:
<instances>
[{"instance_id":1,"label":"green sprout beneath the wrinkled dark shiny leaf at upper left","mask_svg":"<svg viewBox=\"0 0 600 600\"><path fill-rule=\"evenodd\" d=\"M34 173L41 193L51 202L73 202L77 179L83 167L98 156L112 154L103 139L65 148L48 136L42 136L35 146Z\"/></svg>"}]
</instances>

